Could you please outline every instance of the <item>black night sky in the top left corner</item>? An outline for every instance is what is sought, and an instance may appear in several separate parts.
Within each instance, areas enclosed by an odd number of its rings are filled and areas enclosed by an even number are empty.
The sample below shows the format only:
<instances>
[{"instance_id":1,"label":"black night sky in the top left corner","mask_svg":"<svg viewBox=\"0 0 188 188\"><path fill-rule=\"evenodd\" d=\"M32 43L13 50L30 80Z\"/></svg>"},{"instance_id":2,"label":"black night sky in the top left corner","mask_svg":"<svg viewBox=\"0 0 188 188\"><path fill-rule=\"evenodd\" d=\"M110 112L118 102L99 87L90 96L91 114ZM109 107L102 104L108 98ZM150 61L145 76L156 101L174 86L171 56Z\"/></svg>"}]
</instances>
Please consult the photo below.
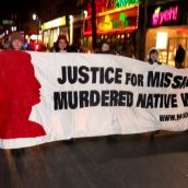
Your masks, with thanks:
<instances>
[{"instance_id":1,"label":"black night sky in the top left corner","mask_svg":"<svg viewBox=\"0 0 188 188\"><path fill-rule=\"evenodd\" d=\"M10 19L12 13L24 19L39 10L39 0L2 0L0 5L0 20Z\"/></svg>"}]
</instances>

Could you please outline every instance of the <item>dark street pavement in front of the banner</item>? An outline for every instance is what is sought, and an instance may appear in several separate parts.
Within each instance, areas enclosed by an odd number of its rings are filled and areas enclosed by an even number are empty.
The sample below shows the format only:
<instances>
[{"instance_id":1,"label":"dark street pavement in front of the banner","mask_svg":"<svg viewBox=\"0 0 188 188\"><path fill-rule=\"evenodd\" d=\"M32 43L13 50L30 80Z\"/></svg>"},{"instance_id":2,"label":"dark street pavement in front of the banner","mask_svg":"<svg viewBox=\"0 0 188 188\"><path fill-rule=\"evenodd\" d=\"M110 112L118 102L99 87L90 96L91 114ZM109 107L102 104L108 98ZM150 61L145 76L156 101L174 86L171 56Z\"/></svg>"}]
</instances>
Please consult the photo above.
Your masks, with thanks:
<instances>
[{"instance_id":1,"label":"dark street pavement in front of the banner","mask_svg":"<svg viewBox=\"0 0 188 188\"><path fill-rule=\"evenodd\" d=\"M1 150L0 188L188 188L188 132Z\"/></svg>"}]
</instances>

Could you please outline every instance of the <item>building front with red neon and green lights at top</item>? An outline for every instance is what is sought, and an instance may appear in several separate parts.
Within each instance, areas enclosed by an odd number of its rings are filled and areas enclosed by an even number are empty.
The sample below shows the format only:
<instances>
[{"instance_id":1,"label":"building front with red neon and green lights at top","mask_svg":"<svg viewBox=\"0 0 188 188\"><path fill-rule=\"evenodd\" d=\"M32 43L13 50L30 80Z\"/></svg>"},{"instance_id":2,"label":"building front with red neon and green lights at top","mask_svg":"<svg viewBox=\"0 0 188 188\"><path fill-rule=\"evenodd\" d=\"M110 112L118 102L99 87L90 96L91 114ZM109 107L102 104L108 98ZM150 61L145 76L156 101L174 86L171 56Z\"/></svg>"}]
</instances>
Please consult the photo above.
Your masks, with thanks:
<instances>
[{"instance_id":1,"label":"building front with red neon and green lights at top","mask_svg":"<svg viewBox=\"0 0 188 188\"><path fill-rule=\"evenodd\" d=\"M136 49L137 30L139 27L139 0L95 1L96 4L96 44L99 48L105 40L110 45L113 52L122 52L129 56L129 46ZM92 47L92 15L91 7L83 21L83 44ZM136 54L136 52L133 52Z\"/></svg>"}]
</instances>

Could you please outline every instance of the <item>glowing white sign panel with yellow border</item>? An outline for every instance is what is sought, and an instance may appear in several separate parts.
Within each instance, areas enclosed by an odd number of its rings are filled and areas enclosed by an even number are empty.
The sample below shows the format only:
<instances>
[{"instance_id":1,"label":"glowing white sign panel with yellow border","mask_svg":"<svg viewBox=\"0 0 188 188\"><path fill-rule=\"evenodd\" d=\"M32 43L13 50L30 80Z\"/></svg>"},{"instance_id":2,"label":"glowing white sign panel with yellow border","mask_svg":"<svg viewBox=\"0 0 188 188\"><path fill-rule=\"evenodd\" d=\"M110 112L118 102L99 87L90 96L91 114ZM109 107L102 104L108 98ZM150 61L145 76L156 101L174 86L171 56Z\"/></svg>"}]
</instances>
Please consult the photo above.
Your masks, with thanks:
<instances>
[{"instance_id":1,"label":"glowing white sign panel with yellow border","mask_svg":"<svg viewBox=\"0 0 188 188\"><path fill-rule=\"evenodd\" d=\"M46 22L43 24L43 30L55 28L66 25L66 16L55 19L52 21Z\"/></svg>"}]
</instances>

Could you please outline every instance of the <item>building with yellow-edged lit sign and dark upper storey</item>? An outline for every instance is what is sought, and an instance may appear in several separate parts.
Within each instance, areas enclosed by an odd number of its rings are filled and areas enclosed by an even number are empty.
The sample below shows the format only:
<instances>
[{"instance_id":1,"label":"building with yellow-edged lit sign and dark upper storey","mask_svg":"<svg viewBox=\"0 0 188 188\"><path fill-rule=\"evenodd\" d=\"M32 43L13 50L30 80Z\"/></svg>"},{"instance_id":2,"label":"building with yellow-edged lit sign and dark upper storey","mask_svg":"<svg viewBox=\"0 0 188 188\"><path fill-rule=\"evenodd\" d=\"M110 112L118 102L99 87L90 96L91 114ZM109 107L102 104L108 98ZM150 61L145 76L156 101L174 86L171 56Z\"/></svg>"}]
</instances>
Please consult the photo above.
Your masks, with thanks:
<instances>
[{"instance_id":1,"label":"building with yellow-edged lit sign and dark upper storey","mask_svg":"<svg viewBox=\"0 0 188 188\"><path fill-rule=\"evenodd\" d=\"M43 40L52 47L57 37L67 35L71 45L78 45L83 33L83 7L77 0L40 0Z\"/></svg>"}]
</instances>

